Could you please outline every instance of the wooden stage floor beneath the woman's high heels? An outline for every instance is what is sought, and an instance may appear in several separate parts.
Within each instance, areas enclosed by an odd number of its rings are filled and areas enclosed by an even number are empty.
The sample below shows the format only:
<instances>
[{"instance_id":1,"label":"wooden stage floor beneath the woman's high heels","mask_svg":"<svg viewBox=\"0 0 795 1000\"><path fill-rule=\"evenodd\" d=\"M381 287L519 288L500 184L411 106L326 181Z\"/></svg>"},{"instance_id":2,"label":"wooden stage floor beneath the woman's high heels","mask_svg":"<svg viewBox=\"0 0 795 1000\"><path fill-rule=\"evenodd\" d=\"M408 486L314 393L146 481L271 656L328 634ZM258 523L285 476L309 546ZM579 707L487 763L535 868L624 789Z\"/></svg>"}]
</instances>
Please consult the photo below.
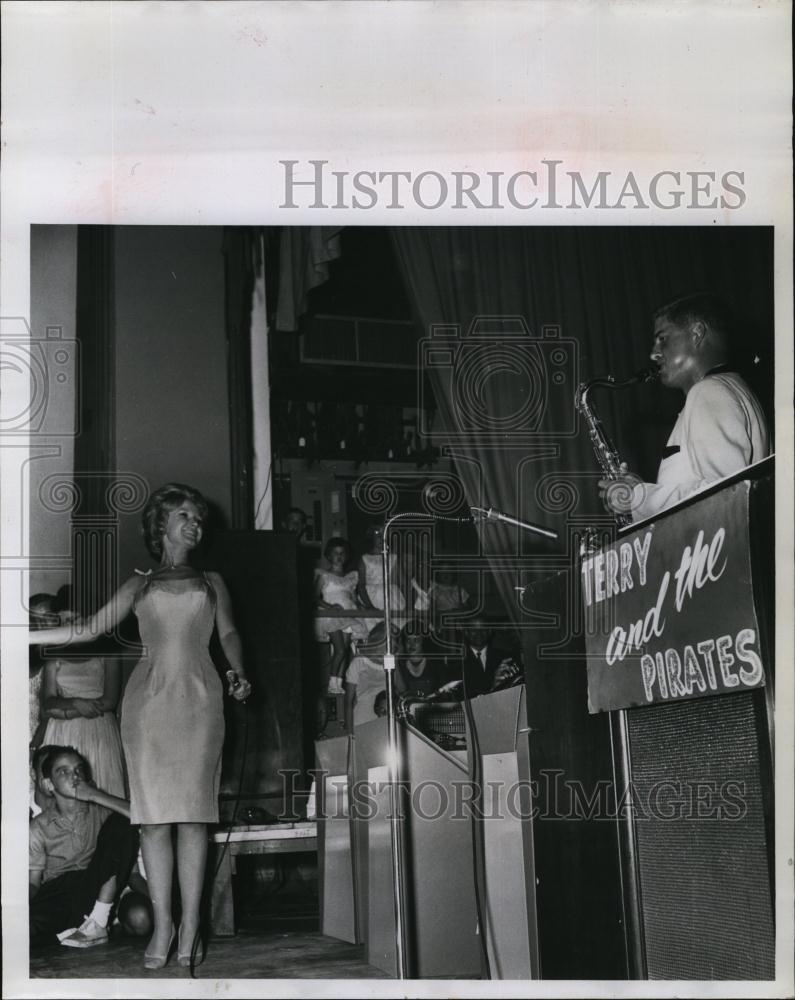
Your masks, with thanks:
<instances>
[{"instance_id":1,"label":"wooden stage floor beneath the woman's high heels","mask_svg":"<svg viewBox=\"0 0 795 1000\"><path fill-rule=\"evenodd\" d=\"M122 932L106 945L78 950L53 945L31 956L31 978L58 979L185 979L172 957L165 969L146 972L146 941ZM252 921L233 938L209 942L207 956L196 969L199 979L386 979L367 965L364 945L347 944L313 931L276 932L257 929ZM112 992L112 991L111 991ZM111 994L109 994L111 995Z\"/></svg>"}]
</instances>

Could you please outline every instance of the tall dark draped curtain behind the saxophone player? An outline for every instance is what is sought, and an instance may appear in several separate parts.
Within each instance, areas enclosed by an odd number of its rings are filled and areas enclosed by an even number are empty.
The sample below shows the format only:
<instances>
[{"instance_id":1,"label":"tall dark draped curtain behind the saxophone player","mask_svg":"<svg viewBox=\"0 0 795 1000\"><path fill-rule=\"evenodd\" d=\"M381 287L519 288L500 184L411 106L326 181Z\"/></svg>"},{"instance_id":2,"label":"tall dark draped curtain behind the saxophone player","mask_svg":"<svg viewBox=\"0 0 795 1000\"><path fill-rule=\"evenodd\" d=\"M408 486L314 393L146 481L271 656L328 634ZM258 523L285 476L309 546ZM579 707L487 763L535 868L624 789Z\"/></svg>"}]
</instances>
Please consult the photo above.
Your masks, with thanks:
<instances>
[{"instance_id":1,"label":"tall dark draped curtain behind the saxophone player","mask_svg":"<svg viewBox=\"0 0 795 1000\"><path fill-rule=\"evenodd\" d=\"M391 232L468 502L559 532L559 541L549 543L501 525L481 528L483 551L513 614L514 588L528 582L514 557L532 553L536 571L544 565L551 571L572 555L584 524L610 522L599 505L599 472L575 418L574 392L578 380L604 373L622 378L650 363L650 316L657 306L698 289L725 296L737 311L740 345L757 356L750 375L770 410L769 228ZM522 321L529 337L517 339ZM434 352L434 324L457 328L455 356ZM644 478L655 478L681 394L638 386L602 390L593 403L622 458Z\"/></svg>"}]
</instances>

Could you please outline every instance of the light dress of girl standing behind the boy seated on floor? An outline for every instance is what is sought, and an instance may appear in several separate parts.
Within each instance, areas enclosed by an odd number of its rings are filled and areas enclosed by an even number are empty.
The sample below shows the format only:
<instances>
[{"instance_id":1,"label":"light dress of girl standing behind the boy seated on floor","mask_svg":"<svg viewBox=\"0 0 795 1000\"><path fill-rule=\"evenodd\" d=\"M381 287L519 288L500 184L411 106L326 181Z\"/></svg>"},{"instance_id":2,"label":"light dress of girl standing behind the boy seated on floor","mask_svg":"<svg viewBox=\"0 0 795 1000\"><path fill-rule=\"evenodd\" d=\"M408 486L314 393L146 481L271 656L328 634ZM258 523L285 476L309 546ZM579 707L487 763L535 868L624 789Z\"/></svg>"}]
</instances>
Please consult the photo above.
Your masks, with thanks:
<instances>
[{"instance_id":1,"label":"light dress of girl standing behind the boy seated on floor","mask_svg":"<svg viewBox=\"0 0 795 1000\"><path fill-rule=\"evenodd\" d=\"M90 660L55 660L55 683L59 698L101 698L105 688L105 664L100 657ZM97 788L125 798L119 724L115 712L95 719L79 715L74 719L48 719L44 744L74 747L91 765Z\"/></svg>"}]
</instances>

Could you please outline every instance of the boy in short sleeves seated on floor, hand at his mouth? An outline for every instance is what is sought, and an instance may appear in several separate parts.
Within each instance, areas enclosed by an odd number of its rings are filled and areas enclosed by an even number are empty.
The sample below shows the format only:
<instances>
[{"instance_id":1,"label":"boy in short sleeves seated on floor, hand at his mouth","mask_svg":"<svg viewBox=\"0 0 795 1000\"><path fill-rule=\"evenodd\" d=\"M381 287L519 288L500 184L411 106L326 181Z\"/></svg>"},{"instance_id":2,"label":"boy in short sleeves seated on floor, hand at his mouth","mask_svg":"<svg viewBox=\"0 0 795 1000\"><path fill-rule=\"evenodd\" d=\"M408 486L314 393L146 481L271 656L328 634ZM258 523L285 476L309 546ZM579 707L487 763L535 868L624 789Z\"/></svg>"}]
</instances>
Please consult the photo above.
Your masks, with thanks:
<instances>
[{"instance_id":1,"label":"boy in short sleeves seated on floor, hand at his mouth","mask_svg":"<svg viewBox=\"0 0 795 1000\"><path fill-rule=\"evenodd\" d=\"M51 747L41 774L51 802L30 823L31 946L56 935L72 948L104 944L138 850L129 804L95 788L85 758L71 747ZM104 822L98 806L112 810Z\"/></svg>"}]
</instances>

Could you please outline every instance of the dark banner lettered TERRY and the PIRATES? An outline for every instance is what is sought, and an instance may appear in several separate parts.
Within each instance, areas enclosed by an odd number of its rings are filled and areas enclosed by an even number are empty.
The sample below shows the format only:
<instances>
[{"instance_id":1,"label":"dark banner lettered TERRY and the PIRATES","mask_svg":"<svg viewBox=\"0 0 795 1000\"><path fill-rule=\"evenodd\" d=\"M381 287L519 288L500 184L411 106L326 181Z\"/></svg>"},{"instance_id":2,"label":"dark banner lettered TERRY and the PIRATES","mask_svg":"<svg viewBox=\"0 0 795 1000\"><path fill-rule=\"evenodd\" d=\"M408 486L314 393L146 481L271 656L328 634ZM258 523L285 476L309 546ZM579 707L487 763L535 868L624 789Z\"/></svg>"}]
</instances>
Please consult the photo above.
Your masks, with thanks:
<instances>
[{"instance_id":1,"label":"dark banner lettered TERRY and the PIRATES","mask_svg":"<svg viewBox=\"0 0 795 1000\"><path fill-rule=\"evenodd\" d=\"M749 489L737 483L582 560L590 712L764 684Z\"/></svg>"}]
</instances>

